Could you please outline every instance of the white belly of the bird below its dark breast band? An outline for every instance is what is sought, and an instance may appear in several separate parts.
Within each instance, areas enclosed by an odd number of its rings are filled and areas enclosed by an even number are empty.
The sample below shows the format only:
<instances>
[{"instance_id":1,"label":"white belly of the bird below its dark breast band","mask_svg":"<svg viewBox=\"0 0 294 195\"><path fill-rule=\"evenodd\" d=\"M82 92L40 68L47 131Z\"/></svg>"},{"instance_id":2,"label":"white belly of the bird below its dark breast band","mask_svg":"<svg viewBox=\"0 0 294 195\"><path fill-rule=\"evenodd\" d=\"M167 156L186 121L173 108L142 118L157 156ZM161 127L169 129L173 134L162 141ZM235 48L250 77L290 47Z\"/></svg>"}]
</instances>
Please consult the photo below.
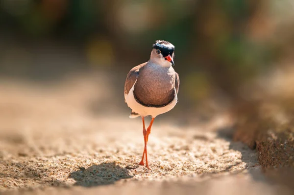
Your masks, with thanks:
<instances>
[{"instance_id":1,"label":"white belly of the bird below its dark breast band","mask_svg":"<svg viewBox=\"0 0 294 195\"><path fill-rule=\"evenodd\" d=\"M172 110L172 108L177 103L177 94L175 93L175 97L172 100L172 102L166 105L165 107L156 108L156 107L143 106L140 103L138 103L134 97L134 93L133 93L134 86L135 85L133 85L133 87L131 88L128 94L124 94L124 98L128 107L130 107L134 112L140 114L142 117L151 116L155 118L156 116L160 114L163 114Z\"/></svg>"}]
</instances>

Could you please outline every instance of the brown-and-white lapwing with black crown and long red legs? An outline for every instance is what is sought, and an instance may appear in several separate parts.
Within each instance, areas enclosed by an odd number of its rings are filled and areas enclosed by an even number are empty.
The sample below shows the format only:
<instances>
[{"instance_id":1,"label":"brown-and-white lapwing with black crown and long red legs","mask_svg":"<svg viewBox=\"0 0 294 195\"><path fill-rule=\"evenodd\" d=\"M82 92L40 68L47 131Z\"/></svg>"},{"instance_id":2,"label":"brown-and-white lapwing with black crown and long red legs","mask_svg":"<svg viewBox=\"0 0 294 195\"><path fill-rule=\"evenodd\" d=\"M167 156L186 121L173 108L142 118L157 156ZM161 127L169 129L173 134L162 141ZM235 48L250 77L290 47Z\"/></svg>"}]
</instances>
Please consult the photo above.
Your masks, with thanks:
<instances>
[{"instance_id":1,"label":"brown-and-white lapwing with black crown and long red legs","mask_svg":"<svg viewBox=\"0 0 294 195\"><path fill-rule=\"evenodd\" d=\"M157 40L152 45L149 60L132 68L124 83L124 100L131 109L129 118L142 118L144 151L139 165L144 166L145 156L148 169L147 142L154 119L172 110L178 102L180 79L172 68L174 49L170 42ZM145 118L148 116L151 122L146 129Z\"/></svg>"}]
</instances>

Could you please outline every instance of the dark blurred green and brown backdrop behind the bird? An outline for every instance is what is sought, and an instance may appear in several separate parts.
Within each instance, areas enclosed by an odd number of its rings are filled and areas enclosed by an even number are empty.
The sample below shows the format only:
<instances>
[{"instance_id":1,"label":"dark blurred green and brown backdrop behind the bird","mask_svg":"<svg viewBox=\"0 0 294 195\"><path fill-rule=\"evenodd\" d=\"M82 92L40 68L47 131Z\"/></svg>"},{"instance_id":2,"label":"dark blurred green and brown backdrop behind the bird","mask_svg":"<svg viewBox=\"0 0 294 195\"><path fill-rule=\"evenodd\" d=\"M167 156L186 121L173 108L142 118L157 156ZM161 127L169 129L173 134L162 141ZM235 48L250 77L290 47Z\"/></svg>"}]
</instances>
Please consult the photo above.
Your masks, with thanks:
<instances>
[{"instance_id":1,"label":"dark blurred green and brown backdrop behind the bird","mask_svg":"<svg viewBox=\"0 0 294 195\"><path fill-rule=\"evenodd\" d=\"M149 59L158 39L175 45L181 79L177 111L166 116L207 120L256 97L252 94L266 89L277 69L289 73L294 2L0 0L0 78L44 87L69 75L77 83L80 75L107 75L94 89L109 85L106 90L116 98L93 101L93 113L112 105L129 112L124 79Z\"/></svg>"}]
</instances>

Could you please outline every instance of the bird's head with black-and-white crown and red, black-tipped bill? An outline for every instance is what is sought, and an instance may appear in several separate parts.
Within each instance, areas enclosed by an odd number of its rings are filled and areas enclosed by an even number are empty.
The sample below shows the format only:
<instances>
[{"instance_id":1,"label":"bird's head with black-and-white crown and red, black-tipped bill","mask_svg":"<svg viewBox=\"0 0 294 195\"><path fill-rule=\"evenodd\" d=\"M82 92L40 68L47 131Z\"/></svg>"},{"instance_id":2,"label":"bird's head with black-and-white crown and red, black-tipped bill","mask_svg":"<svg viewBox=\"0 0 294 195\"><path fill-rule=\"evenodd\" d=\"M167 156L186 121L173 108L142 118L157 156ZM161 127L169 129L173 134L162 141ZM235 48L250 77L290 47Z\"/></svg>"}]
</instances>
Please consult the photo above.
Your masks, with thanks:
<instances>
[{"instance_id":1,"label":"bird's head with black-and-white crown and red, black-tipped bill","mask_svg":"<svg viewBox=\"0 0 294 195\"><path fill-rule=\"evenodd\" d=\"M174 46L167 41L156 41L153 44L150 60L160 66L170 67L174 66Z\"/></svg>"}]
</instances>

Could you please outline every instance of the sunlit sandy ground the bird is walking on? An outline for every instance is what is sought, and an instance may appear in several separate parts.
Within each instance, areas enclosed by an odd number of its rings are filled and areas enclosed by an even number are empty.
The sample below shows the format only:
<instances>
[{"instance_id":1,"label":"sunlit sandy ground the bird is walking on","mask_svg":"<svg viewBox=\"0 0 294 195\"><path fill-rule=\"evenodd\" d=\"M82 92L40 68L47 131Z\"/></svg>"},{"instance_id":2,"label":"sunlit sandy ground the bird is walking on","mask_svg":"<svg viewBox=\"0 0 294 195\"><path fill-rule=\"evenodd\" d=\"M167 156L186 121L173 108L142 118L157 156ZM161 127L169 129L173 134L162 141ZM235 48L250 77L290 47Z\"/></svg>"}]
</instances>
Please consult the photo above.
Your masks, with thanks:
<instances>
[{"instance_id":1,"label":"sunlit sandy ground the bird is walking on","mask_svg":"<svg viewBox=\"0 0 294 195\"><path fill-rule=\"evenodd\" d=\"M114 112L116 95L98 88L101 77L53 87L0 82L0 193L291 194L265 179L254 150L219 130L222 116L198 126L155 120L151 170L138 166L141 120Z\"/></svg>"}]
</instances>

